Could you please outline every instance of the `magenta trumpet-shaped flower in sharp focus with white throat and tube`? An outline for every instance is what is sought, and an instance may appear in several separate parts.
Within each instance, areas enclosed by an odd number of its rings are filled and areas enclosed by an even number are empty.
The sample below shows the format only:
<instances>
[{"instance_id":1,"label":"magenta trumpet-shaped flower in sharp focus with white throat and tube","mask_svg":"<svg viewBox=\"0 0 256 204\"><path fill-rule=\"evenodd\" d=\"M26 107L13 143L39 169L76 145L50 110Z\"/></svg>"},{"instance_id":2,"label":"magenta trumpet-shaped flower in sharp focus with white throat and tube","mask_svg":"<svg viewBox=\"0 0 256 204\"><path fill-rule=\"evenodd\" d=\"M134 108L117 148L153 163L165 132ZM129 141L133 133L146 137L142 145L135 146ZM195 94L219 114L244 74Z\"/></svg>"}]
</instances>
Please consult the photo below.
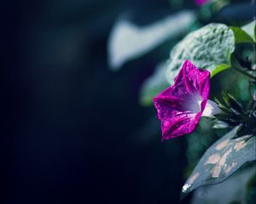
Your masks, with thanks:
<instances>
[{"instance_id":1,"label":"magenta trumpet-shaped flower in sharp focus with white throat and tube","mask_svg":"<svg viewBox=\"0 0 256 204\"><path fill-rule=\"evenodd\" d=\"M201 116L219 112L218 105L208 100L209 91L210 72L186 60L174 84L154 98L162 140L192 133Z\"/></svg>"}]
</instances>

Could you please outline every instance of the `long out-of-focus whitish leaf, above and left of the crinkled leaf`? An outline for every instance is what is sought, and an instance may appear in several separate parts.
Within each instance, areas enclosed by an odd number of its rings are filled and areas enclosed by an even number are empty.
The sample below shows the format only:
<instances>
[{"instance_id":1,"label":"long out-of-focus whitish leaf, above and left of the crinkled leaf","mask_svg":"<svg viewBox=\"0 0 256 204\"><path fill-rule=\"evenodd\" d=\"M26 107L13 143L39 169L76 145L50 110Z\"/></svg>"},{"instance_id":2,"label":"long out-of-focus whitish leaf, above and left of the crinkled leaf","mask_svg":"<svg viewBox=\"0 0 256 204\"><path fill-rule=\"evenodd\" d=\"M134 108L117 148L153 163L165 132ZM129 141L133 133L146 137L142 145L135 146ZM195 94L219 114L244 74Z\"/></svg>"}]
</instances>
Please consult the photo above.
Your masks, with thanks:
<instances>
[{"instance_id":1,"label":"long out-of-focus whitish leaf, above and left of the crinkled leaf","mask_svg":"<svg viewBox=\"0 0 256 204\"><path fill-rule=\"evenodd\" d=\"M177 37L195 22L195 14L182 11L154 24L138 27L128 20L118 20L108 39L108 64L117 71L128 60L148 53L167 39Z\"/></svg>"}]
</instances>

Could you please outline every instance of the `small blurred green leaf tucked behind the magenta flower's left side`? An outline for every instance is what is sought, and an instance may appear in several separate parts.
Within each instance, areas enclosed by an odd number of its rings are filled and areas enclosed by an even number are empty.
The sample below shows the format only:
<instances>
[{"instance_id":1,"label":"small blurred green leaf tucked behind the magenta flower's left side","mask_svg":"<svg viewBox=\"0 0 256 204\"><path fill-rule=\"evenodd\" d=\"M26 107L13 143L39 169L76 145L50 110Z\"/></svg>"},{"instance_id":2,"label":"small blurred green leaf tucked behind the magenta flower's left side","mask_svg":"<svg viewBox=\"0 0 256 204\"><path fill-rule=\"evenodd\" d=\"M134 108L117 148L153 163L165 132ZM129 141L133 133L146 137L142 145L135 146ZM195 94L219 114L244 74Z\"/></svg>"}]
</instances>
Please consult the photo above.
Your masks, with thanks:
<instances>
[{"instance_id":1,"label":"small blurred green leaf tucked behind the magenta flower's left side","mask_svg":"<svg viewBox=\"0 0 256 204\"><path fill-rule=\"evenodd\" d=\"M140 94L141 105L152 105L152 99L169 86L165 72L166 63L160 64L154 74L143 82Z\"/></svg>"}]
</instances>

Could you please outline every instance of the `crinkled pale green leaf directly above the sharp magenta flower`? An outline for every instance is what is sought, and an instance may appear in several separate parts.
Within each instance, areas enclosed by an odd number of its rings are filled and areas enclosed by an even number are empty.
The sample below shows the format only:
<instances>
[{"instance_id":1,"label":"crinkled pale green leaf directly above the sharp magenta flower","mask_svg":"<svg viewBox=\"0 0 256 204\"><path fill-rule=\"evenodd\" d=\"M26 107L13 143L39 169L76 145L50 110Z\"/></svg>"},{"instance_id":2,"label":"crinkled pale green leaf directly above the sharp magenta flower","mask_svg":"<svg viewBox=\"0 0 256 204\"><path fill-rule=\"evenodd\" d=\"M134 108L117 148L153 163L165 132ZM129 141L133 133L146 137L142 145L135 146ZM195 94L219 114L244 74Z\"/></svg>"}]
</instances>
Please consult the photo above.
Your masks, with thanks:
<instances>
[{"instance_id":1,"label":"crinkled pale green leaf directly above the sharp magenta flower","mask_svg":"<svg viewBox=\"0 0 256 204\"><path fill-rule=\"evenodd\" d=\"M189 33L172 48L166 77L173 83L185 59L197 67L211 71L211 77L230 68L230 54L235 50L235 37L224 24L209 24Z\"/></svg>"}]
</instances>

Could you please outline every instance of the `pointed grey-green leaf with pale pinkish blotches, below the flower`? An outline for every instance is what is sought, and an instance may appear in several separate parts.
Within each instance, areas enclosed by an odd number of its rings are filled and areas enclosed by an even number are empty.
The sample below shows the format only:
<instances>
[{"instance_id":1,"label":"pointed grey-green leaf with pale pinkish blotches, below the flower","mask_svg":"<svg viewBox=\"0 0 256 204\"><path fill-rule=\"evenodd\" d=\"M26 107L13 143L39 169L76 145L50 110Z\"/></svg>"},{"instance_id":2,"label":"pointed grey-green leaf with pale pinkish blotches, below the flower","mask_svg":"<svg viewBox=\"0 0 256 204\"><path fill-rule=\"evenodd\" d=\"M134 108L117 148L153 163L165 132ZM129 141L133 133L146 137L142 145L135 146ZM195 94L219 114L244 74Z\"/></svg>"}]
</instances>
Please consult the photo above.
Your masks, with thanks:
<instances>
[{"instance_id":1,"label":"pointed grey-green leaf with pale pinkish blotches, below the flower","mask_svg":"<svg viewBox=\"0 0 256 204\"><path fill-rule=\"evenodd\" d=\"M229 178L247 161L256 160L256 136L244 135L232 139L236 135L237 128L233 128L212 144L201 157L183 185L183 196L202 185L218 184Z\"/></svg>"}]
</instances>

